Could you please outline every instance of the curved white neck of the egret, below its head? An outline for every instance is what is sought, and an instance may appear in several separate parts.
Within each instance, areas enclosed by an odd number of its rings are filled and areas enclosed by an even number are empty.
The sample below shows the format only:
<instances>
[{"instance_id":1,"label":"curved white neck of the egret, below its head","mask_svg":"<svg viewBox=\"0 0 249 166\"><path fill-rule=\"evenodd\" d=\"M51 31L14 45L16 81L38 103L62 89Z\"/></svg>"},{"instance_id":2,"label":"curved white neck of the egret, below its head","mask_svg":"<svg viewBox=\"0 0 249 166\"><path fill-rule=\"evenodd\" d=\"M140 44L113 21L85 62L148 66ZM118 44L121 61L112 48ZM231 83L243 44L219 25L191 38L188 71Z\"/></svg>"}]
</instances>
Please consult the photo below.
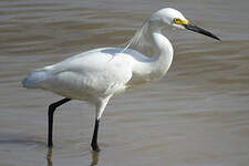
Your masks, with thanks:
<instances>
[{"instance_id":1,"label":"curved white neck of the egret, below its head","mask_svg":"<svg viewBox=\"0 0 249 166\"><path fill-rule=\"evenodd\" d=\"M164 76L173 61L173 46L167 38L162 34L160 28L147 24L139 34L146 40L146 45L153 49L153 56L146 61L138 61L134 65L136 80L141 83L155 81Z\"/></svg>"}]
</instances>

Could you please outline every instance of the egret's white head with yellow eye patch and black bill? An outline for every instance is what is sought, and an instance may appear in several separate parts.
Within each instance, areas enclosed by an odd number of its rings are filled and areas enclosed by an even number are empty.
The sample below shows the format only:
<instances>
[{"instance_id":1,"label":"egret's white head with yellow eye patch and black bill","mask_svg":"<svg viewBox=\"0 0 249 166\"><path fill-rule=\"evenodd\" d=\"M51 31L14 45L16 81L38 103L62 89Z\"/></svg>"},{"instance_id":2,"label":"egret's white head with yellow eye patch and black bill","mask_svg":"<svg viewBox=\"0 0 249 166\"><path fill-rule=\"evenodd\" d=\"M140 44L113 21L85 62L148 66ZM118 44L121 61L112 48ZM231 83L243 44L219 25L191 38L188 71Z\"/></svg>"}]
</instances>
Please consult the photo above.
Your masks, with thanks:
<instances>
[{"instance_id":1,"label":"egret's white head with yellow eye patch and black bill","mask_svg":"<svg viewBox=\"0 0 249 166\"><path fill-rule=\"evenodd\" d=\"M216 40L220 40L211 32L208 32L207 30L190 23L179 11L172 8L164 8L156 11L152 14L149 21L156 23L158 27L165 27L165 24L169 24L178 29L190 30Z\"/></svg>"}]
</instances>

